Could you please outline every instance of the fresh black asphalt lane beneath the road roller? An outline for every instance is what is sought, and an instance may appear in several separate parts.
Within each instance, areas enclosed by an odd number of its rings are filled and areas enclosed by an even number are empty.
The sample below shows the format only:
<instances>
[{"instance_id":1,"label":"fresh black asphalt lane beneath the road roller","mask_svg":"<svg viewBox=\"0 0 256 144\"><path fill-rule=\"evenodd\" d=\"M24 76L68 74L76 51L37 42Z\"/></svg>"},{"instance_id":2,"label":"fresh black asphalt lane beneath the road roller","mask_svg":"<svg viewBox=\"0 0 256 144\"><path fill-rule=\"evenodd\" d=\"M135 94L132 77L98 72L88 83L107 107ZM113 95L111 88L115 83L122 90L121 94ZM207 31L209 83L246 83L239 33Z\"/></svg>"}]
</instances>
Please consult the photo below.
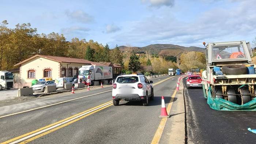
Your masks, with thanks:
<instances>
[{"instance_id":1,"label":"fresh black asphalt lane beneath the road roller","mask_svg":"<svg viewBox=\"0 0 256 144\"><path fill-rule=\"evenodd\" d=\"M256 111L213 110L203 97L202 88L185 89L184 93L188 143L256 143L256 134L247 130L256 129Z\"/></svg>"}]
</instances>

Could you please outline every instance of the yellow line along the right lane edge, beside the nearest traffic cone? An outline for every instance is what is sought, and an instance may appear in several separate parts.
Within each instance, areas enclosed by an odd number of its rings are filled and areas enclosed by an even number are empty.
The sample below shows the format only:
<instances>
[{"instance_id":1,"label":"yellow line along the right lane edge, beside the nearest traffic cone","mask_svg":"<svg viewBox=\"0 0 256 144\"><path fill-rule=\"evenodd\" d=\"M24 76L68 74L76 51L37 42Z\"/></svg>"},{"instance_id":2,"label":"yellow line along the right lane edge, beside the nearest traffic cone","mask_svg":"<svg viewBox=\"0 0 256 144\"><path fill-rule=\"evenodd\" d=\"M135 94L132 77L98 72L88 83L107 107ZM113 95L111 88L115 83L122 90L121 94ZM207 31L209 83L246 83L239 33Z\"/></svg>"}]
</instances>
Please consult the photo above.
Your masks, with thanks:
<instances>
[{"instance_id":1,"label":"yellow line along the right lane edge, beside the nearest traffic cone","mask_svg":"<svg viewBox=\"0 0 256 144\"><path fill-rule=\"evenodd\" d=\"M171 100L170 100L170 103L168 104L167 106L167 109L166 111L169 111L169 114L170 114L170 110L172 108L172 104L173 104L173 100L174 100L174 97L176 95L176 90L174 91L172 97L171 97ZM155 135L154 135L154 138L153 140L151 141L151 144L158 144L160 139L161 139L161 136L162 136L162 133L163 133L163 129L165 128L165 124L166 124L166 121L167 121L167 118L162 118L158 128L157 128L157 132L155 132Z\"/></svg>"}]
</instances>

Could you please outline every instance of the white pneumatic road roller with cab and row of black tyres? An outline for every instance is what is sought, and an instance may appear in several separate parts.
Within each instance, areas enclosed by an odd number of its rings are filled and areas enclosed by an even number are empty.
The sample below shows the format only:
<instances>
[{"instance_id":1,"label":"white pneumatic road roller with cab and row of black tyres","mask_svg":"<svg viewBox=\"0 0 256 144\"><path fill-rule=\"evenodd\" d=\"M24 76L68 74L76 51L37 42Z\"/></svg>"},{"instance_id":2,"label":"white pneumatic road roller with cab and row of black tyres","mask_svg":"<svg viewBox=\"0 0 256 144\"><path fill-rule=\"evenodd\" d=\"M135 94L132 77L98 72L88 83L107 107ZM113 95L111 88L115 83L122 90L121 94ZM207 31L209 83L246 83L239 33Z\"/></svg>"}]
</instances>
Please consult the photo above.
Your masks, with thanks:
<instances>
[{"instance_id":1,"label":"white pneumatic road roller with cab and row of black tyres","mask_svg":"<svg viewBox=\"0 0 256 144\"><path fill-rule=\"evenodd\" d=\"M205 50L207 68L202 72L202 84L207 103L225 110L245 109L242 105L251 102L256 94L256 65L251 60L249 42L211 42ZM209 96L219 102L209 102ZM223 105L220 108L216 104Z\"/></svg>"}]
</instances>

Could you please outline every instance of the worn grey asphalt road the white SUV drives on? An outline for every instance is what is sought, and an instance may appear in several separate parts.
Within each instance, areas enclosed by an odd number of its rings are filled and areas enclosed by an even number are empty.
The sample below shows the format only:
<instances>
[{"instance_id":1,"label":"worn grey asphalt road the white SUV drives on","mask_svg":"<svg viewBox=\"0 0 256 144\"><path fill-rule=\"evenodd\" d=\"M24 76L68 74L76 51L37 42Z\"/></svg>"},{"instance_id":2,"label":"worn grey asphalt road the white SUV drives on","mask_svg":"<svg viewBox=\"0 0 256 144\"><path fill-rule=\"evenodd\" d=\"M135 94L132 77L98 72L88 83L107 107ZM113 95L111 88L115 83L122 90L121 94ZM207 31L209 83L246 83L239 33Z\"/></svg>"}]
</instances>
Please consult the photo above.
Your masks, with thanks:
<instances>
[{"instance_id":1,"label":"worn grey asphalt road the white SUV drives on","mask_svg":"<svg viewBox=\"0 0 256 144\"><path fill-rule=\"evenodd\" d=\"M159 77L153 81L157 83L167 78L169 76ZM155 99L150 101L149 106L142 106L141 102L121 101L120 106L109 105L109 107L91 115L85 115L86 117L77 119L69 125L62 125L62 128L52 132L48 131L42 136L37 135L37 139L33 139L30 143L150 143L161 121L158 118L161 113L161 96L165 96L167 105L176 88L177 79L175 78L177 76L154 86ZM110 90L112 90L112 87L48 98L45 99L45 102L42 102L44 101L42 99L38 107L59 102L60 99L79 98L58 105L0 118L0 142L13 139L112 101ZM30 102L29 105L33 102ZM26 103L23 103L22 106L25 105ZM27 106L23 110L29 110L35 108L35 106L36 101L32 107ZM18 112L19 109L17 109L18 107L16 109L10 108L9 113Z\"/></svg>"}]
</instances>

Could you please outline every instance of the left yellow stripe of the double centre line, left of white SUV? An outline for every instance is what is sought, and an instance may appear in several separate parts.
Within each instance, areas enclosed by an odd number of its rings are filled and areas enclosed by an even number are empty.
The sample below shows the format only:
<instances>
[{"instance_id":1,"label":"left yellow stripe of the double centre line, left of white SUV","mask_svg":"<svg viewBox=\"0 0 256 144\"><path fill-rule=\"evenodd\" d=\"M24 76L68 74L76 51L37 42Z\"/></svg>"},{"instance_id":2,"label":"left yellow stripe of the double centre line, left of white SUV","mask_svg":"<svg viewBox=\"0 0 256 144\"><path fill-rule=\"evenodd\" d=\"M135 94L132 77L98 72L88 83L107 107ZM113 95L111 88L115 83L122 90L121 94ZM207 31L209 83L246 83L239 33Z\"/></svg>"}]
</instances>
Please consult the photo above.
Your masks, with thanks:
<instances>
[{"instance_id":1,"label":"left yellow stripe of the double centre line, left of white SUV","mask_svg":"<svg viewBox=\"0 0 256 144\"><path fill-rule=\"evenodd\" d=\"M106 104L108 104L108 103L110 103L110 102L112 102L112 101L109 101L109 102L103 103L102 105L99 105L99 106L93 107L93 108L91 108L91 109L89 109L89 110L83 111L83 112L81 112L81 113L78 113L78 114L72 115L71 117L65 118L64 120L61 120L61 121L55 122L55 123L53 123L53 124L50 124L50 125L44 126L44 127L40 128L40 129L37 129L37 130L34 130L34 131L32 131L32 132L29 132L29 133L23 134L23 135L21 135L21 136L15 137L15 138L10 139L10 140L8 140L8 141L5 141L5 142L3 142L3 143L1 143L1 144L8 144L8 143L11 143L11 142L13 142L13 141L16 141L16 140L22 139L23 137L26 137L26 136L29 136L29 135L31 135L31 134L37 133L37 132L39 132L39 131L41 131L41 130L44 130L44 129L50 128L51 126L54 126L54 125L60 124L61 122L64 122L64 121L67 121L67 120L69 120L69 119L71 119L71 118L77 117L78 115L84 114L84 113L86 113L86 112L88 112L88 111L91 111L91 110L93 110L93 109L97 109L98 107L101 107L101 106L103 106L103 105L106 105Z\"/></svg>"}]
</instances>

